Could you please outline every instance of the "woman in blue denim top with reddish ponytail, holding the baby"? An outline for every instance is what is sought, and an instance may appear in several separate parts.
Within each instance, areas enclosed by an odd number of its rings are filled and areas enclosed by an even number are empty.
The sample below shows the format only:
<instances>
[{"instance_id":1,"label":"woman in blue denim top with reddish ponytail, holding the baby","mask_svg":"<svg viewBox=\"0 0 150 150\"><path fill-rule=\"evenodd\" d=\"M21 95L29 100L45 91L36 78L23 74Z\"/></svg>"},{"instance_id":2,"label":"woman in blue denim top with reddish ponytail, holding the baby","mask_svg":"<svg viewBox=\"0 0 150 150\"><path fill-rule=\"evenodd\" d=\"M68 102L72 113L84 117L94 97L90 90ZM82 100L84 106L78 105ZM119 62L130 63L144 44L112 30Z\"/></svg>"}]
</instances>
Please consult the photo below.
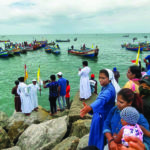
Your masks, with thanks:
<instances>
[{"instance_id":1,"label":"woman in blue denim top with reddish ponytail, holding the baby","mask_svg":"<svg viewBox=\"0 0 150 150\"><path fill-rule=\"evenodd\" d=\"M121 89L118 92L117 96L117 106L114 106L110 110L104 122L103 133L107 138L109 150L118 150L117 144L114 142L113 139L113 134L114 133L118 134L118 132L122 128L120 111L127 106L135 107L140 112L140 118L137 123L139 125L142 125L147 130L149 130L149 124L144 115L142 114L143 112L142 99L139 97L137 93L134 93L131 89L128 88ZM144 135L143 142L145 144L145 149L149 150L150 138ZM108 147L104 148L104 150L105 149L107 150Z\"/></svg>"}]
</instances>

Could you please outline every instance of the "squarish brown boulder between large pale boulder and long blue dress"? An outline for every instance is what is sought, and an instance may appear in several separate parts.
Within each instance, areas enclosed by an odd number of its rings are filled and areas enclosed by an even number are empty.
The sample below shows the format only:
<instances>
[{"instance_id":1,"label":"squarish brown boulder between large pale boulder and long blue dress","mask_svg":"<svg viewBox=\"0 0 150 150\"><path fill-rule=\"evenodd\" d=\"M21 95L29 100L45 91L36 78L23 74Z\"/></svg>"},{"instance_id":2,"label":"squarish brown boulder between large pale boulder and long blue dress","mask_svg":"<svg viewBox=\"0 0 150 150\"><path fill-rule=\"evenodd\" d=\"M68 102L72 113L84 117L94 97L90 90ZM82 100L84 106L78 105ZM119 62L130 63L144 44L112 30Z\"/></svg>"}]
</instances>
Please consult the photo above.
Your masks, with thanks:
<instances>
[{"instance_id":1,"label":"squarish brown boulder between large pale boulder and long blue dress","mask_svg":"<svg viewBox=\"0 0 150 150\"><path fill-rule=\"evenodd\" d=\"M70 131L70 136L83 137L88 134L90 131L91 120L77 120L72 124L72 128Z\"/></svg>"}]
</instances>

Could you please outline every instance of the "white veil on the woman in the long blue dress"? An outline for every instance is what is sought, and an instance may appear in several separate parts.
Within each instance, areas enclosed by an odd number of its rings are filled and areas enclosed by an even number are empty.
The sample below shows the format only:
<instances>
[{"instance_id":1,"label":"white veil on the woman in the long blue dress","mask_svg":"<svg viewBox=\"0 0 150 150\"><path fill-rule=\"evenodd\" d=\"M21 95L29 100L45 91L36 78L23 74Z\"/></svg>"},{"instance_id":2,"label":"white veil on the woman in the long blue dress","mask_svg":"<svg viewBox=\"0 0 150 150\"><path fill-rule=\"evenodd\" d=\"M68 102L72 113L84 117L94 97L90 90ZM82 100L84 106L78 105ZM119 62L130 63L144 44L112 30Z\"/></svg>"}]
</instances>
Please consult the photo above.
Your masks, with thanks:
<instances>
[{"instance_id":1,"label":"white veil on the woman in the long blue dress","mask_svg":"<svg viewBox=\"0 0 150 150\"><path fill-rule=\"evenodd\" d=\"M109 74L109 80L111 81L111 83L113 84L115 91L116 91L116 99L115 102L117 102L117 93L120 91L120 86L119 84L116 82L115 77L114 77L114 73L110 70L110 69L105 69L108 74Z\"/></svg>"}]
</instances>

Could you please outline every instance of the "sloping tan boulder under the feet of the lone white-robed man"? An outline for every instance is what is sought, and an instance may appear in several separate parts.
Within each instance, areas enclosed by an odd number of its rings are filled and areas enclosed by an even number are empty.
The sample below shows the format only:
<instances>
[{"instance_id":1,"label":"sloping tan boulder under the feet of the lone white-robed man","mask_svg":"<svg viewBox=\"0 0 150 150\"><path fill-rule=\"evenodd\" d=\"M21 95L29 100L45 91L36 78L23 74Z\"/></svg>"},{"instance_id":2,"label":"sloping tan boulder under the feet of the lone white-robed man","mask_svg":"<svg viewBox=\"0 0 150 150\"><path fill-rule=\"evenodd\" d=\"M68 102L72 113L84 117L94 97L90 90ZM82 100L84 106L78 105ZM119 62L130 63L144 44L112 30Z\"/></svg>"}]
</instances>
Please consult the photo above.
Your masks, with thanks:
<instances>
[{"instance_id":1,"label":"sloping tan boulder under the feet of the lone white-robed man","mask_svg":"<svg viewBox=\"0 0 150 150\"><path fill-rule=\"evenodd\" d=\"M97 95L92 94L92 96L85 101L86 104L90 105L93 101L96 100ZM83 108L83 102L79 100L79 92L76 93L76 95L73 98L73 102L69 111L69 124L71 124L79 119L91 119L91 116L89 114L85 115L85 117L80 117L80 110Z\"/></svg>"}]
</instances>

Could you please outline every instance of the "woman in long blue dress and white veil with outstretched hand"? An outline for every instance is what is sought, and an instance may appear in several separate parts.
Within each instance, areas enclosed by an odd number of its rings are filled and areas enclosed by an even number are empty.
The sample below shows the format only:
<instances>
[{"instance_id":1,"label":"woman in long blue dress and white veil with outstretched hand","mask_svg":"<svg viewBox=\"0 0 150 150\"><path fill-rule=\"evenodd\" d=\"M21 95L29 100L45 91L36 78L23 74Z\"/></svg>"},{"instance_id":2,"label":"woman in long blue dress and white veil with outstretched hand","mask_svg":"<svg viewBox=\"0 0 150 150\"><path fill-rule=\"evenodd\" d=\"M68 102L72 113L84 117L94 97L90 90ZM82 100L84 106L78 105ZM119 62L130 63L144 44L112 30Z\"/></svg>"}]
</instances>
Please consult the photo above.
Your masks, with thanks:
<instances>
[{"instance_id":1,"label":"woman in long blue dress and white veil with outstretched hand","mask_svg":"<svg viewBox=\"0 0 150 150\"><path fill-rule=\"evenodd\" d=\"M120 87L110 69L100 70L99 82L102 86L101 92L90 106L83 103L84 108L80 111L80 116L84 117L87 113L93 115L88 145L103 150L103 124L107 114L115 105L116 93L120 90Z\"/></svg>"}]
</instances>

